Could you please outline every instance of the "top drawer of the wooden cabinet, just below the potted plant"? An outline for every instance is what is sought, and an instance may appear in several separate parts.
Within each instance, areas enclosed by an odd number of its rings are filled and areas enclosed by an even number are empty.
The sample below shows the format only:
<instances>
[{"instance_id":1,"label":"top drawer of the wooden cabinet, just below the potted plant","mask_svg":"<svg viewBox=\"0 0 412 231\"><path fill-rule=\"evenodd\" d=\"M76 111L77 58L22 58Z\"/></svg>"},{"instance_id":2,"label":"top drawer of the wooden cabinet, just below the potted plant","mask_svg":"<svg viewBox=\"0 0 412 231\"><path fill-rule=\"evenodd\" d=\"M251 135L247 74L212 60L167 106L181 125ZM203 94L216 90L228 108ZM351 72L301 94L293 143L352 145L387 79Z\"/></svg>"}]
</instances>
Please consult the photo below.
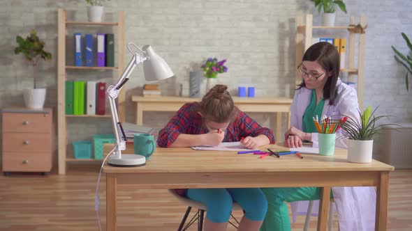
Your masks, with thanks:
<instances>
[{"instance_id":1,"label":"top drawer of the wooden cabinet, just below the potted plant","mask_svg":"<svg viewBox=\"0 0 412 231\"><path fill-rule=\"evenodd\" d=\"M51 133L52 113L3 113L3 132Z\"/></svg>"}]
</instances>

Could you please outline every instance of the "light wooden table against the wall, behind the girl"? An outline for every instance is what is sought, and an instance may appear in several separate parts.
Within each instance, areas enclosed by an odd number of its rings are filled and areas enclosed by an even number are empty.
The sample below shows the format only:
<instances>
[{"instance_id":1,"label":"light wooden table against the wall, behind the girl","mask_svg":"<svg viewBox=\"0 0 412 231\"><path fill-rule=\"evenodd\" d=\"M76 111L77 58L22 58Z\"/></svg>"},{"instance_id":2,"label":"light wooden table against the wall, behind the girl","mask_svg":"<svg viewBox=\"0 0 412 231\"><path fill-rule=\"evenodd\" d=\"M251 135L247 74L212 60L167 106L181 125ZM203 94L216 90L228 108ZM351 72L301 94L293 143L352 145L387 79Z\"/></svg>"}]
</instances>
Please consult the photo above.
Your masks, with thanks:
<instances>
[{"instance_id":1,"label":"light wooden table against the wall, behind the girl","mask_svg":"<svg viewBox=\"0 0 412 231\"><path fill-rule=\"evenodd\" d=\"M143 124L144 111L177 111L188 102L200 102L200 98L189 97L142 97L133 95L131 101L136 103L136 124ZM281 113L286 113L286 124L290 127L290 104L292 99L286 97L233 97L233 101L244 112L276 113L274 127L276 141L283 141L281 134ZM270 122L273 126L273 122Z\"/></svg>"}]
</instances>

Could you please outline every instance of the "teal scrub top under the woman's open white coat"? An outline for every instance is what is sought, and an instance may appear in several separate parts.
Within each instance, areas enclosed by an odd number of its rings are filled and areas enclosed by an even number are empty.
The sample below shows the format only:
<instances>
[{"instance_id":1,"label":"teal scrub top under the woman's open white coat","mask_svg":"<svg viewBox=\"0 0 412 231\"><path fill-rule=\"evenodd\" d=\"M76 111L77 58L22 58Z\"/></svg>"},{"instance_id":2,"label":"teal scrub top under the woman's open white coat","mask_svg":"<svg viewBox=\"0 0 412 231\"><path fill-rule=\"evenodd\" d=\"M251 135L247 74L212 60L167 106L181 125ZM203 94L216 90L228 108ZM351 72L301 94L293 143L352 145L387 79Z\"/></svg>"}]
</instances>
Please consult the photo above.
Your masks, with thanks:
<instances>
[{"instance_id":1,"label":"teal scrub top under the woman's open white coat","mask_svg":"<svg viewBox=\"0 0 412 231\"><path fill-rule=\"evenodd\" d=\"M314 118L316 118L316 115L318 116L318 119L321 120L322 116L322 111L323 111L323 106L325 105L325 99L321 99L321 101L316 105L316 92L315 90L312 90L311 94L311 102L306 108L306 111L304 111L303 115L303 132L307 133L313 133L313 132L318 132L318 129L316 129L316 125L314 123Z\"/></svg>"}]
</instances>

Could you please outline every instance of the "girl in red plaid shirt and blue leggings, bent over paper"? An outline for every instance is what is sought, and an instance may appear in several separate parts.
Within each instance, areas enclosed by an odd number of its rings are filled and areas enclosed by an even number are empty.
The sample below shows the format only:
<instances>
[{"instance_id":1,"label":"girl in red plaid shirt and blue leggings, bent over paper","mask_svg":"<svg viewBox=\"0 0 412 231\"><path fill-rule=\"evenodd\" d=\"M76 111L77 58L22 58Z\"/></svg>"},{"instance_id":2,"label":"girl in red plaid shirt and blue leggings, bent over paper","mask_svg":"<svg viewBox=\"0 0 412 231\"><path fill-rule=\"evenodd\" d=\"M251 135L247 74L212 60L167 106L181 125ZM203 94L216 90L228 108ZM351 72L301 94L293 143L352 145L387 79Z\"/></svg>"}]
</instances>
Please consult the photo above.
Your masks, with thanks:
<instances>
[{"instance_id":1,"label":"girl in red plaid shirt and blue leggings, bent over paper","mask_svg":"<svg viewBox=\"0 0 412 231\"><path fill-rule=\"evenodd\" d=\"M157 143L165 148L241 141L249 148L274 143L270 129L261 127L235 107L227 86L216 85L201 102L182 106L168 124L161 129ZM177 189L191 200L202 202L207 208L205 230L226 230L233 201L245 214L238 230L259 230L267 212L267 200L260 189Z\"/></svg>"}]
</instances>

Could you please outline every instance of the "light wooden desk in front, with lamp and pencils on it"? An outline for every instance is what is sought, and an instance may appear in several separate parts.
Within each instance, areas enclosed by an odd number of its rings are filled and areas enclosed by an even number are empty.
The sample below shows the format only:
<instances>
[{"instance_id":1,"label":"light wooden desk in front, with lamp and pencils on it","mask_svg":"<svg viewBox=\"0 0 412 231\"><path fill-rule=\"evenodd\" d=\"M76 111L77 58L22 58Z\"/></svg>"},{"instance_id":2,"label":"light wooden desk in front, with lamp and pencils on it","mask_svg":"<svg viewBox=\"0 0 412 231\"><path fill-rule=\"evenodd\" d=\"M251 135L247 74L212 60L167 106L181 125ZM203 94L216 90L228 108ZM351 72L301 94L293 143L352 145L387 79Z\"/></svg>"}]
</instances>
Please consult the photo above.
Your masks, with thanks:
<instances>
[{"instance_id":1,"label":"light wooden desk in front, with lamp and pencils on it","mask_svg":"<svg viewBox=\"0 0 412 231\"><path fill-rule=\"evenodd\" d=\"M279 149L277 145L268 147ZM105 145L111 150L112 145ZM125 153L133 152L133 147ZM302 154L280 159L258 159L253 154L195 151L190 148L158 148L146 166L117 168L105 165L106 225L117 230L117 186L134 185L137 189L245 188L245 187L322 187L318 230L328 226L332 186L376 186L376 230L386 230L388 218L389 173L392 166L373 160L353 164L346 150L334 156Z\"/></svg>"}]
</instances>

